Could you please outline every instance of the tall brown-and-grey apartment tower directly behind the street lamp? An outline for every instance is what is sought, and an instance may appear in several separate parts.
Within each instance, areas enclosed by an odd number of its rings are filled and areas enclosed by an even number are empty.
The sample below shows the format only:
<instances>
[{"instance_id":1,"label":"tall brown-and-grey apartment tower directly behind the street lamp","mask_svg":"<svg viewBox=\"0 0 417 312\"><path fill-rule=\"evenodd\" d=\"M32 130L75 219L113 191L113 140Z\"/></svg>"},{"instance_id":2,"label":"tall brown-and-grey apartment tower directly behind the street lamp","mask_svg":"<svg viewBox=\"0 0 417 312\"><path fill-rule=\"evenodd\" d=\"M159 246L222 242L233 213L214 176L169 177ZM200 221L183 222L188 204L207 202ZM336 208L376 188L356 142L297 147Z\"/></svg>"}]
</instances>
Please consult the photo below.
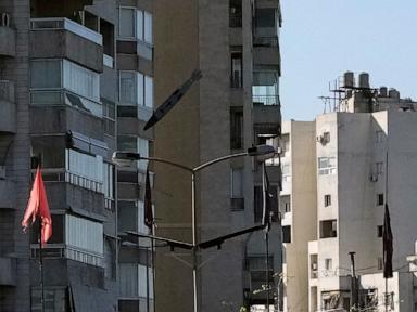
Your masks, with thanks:
<instances>
[{"instance_id":1,"label":"tall brown-and-grey apartment tower directly behind the street lamp","mask_svg":"<svg viewBox=\"0 0 417 312\"><path fill-rule=\"evenodd\" d=\"M277 0L154 3L155 102L162 103L194 69L203 75L154 127L155 156L197 167L279 135L280 24ZM278 164L278 159L268 161L275 202ZM260 168L242 157L198 173L198 242L260 224ZM190 173L165 164L155 164L155 172L157 235L191 243ZM264 233L199 252L199 311L265 309L267 302L276 303L276 276L281 271L277 221L275 211L267 269ZM192 311L191 255L178 248L157 249L156 310Z\"/></svg>"}]
</instances>

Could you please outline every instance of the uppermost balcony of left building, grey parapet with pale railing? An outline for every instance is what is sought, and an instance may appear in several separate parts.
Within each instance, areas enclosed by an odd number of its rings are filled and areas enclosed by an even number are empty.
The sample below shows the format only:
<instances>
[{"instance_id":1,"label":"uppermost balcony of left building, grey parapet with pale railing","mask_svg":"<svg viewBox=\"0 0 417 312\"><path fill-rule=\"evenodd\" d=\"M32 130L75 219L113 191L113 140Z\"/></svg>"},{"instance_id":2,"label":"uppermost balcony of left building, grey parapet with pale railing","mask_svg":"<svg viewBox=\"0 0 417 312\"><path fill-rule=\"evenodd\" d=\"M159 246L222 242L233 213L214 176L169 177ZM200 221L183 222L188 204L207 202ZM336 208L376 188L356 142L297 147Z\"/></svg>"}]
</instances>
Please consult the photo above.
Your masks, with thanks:
<instances>
[{"instance_id":1,"label":"uppermost balcony of left building, grey parapet with pale railing","mask_svg":"<svg viewBox=\"0 0 417 312\"><path fill-rule=\"evenodd\" d=\"M68 18L30 20L30 57L68 58L94 72L103 72L103 38Z\"/></svg>"}]
</instances>

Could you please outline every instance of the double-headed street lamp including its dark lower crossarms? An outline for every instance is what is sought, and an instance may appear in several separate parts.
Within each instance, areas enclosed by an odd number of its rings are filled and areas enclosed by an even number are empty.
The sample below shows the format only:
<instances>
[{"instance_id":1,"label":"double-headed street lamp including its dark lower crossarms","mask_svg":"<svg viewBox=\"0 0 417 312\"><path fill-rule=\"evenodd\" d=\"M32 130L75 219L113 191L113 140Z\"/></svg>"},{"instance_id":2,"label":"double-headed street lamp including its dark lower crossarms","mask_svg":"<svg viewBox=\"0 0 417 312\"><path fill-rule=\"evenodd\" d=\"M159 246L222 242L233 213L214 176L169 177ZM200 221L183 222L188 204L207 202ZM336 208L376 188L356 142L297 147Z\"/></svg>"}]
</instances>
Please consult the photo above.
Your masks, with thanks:
<instances>
[{"instance_id":1,"label":"double-headed street lamp including its dark lower crossarms","mask_svg":"<svg viewBox=\"0 0 417 312\"><path fill-rule=\"evenodd\" d=\"M250 229L247 229L247 230L243 230L243 231L239 231L239 232L236 232L236 233L232 233L232 234L228 234L226 236L217 237L215 239L211 239L208 242L204 242L204 243L198 244L197 243L197 218L195 218L195 206L197 206L197 199L195 199L195 174L197 174L197 172L199 172L200 170L202 170L202 169L204 169L204 168L206 168L208 166L212 166L214 164L217 164L217 162L220 162L220 161L224 161L224 160L228 160L228 159L231 159L231 158L243 157L243 156L253 156L253 157L257 157L257 159L260 161L265 161L266 159L269 159L269 158L274 157L274 155L275 155L275 148L273 146L270 146L270 145L257 145L257 146L252 146L252 147L248 148L247 152L237 153L237 154L230 154L230 155L226 155L226 156L223 156L223 157L218 157L218 158L215 158L213 160L206 161L206 162L204 162L202 165L199 165L199 166L197 166L194 168L191 168L191 167L184 166L181 164L177 164L177 162L174 162L174 161L170 161L170 160L167 160L167 159L162 159L162 158L157 158L157 157L143 157L143 156L140 156L139 153L123 152L123 151L116 151L116 152L113 153L112 160L113 160L113 162L116 166L128 167L128 166L131 166L135 161L150 160L150 161L167 164L167 165L180 168L180 169L186 170L186 171L191 173L191 223L192 223L191 226L192 226L192 244L189 244L189 243L186 243L186 242L173 240L173 239L169 239L169 238L152 236L152 235L138 234L138 233L134 233L134 232L127 232L127 233L130 234L130 235L140 236L140 237L150 237L150 238L153 238L153 239L156 239L156 240L163 240L163 242L168 243L173 247L180 247L180 248L189 249L189 250L192 251L192 260L193 260L192 261L193 262L192 263L192 285L193 285L193 301L194 301L193 302L193 306L194 306L194 310L193 311L194 312L199 311L199 309L198 309L198 296L197 296L197 270L198 270L198 265L197 265L197 250L199 248L205 249L205 248L210 248L210 247L213 247L213 246L220 246L226 239L229 239L229 238L232 238L232 237L236 237L236 236L239 236L239 235L243 235L243 234L247 234L247 233L250 233L250 232L254 232L254 231L264 229L264 226L265 226L265 225L258 225L258 226L250 227Z\"/></svg>"}]
</instances>

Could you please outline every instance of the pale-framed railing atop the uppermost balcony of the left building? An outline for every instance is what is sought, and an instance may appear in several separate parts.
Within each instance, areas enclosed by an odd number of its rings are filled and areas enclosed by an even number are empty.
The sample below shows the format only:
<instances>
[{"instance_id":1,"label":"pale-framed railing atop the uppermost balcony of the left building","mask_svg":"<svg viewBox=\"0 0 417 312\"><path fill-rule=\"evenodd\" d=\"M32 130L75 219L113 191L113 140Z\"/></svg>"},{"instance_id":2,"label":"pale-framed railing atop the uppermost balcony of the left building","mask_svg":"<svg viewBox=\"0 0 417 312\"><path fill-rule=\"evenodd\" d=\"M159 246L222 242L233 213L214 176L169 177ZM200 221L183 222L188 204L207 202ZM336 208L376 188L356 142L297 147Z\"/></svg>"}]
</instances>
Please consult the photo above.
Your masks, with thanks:
<instances>
[{"instance_id":1,"label":"pale-framed railing atop the uppermost balcony of the left building","mask_svg":"<svg viewBox=\"0 0 417 312\"><path fill-rule=\"evenodd\" d=\"M103 37L101 34L96 32L74 21L65 17L50 17L50 18L31 18L31 30L47 30L47 29L65 29L79 37L90 40L99 46L103 46Z\"/></svg>"}]
</instances>

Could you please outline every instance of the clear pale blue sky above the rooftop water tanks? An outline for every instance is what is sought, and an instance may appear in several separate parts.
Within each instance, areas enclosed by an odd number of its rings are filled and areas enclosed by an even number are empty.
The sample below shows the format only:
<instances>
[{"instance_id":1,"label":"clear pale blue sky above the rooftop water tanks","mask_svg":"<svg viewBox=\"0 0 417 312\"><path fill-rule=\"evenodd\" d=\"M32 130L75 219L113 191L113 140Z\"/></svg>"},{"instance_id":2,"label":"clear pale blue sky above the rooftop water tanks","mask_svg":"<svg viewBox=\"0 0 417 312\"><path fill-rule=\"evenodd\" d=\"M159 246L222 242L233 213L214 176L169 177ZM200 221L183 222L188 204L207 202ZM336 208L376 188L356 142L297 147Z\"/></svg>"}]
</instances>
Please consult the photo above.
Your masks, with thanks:
<instances>
[{"instance_id":1,"label":"clear pale blue sky above the rooftop water tanks","mask_svg":"<svg viewBox=\"0 0 417 312\"><path fill-rule=\"evenodd\" d=\"M346 70L417 100L417 0L281 0L283 119L311 120Z\"/></svg>"}]
</instances>

